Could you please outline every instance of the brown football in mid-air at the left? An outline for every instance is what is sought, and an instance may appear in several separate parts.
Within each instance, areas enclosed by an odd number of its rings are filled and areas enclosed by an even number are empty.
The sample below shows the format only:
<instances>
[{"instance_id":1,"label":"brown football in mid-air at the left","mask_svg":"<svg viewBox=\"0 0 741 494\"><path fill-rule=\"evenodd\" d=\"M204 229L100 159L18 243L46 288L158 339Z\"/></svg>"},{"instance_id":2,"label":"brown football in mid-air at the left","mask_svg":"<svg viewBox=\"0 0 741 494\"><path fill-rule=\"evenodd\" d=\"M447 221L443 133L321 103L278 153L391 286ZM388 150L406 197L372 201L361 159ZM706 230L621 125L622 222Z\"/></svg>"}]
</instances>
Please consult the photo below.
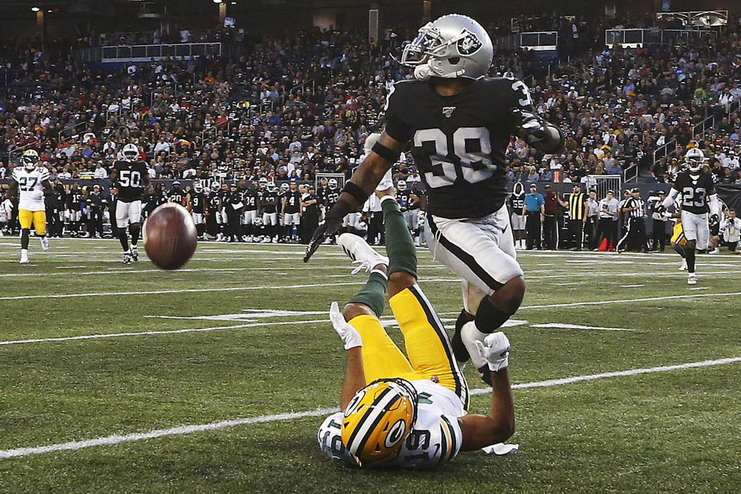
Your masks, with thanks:
<instances>
[{"instance_id":1,"label":"brown football in mid-air at the left","mask_svg":"<svg viewBox=\"0 0 741 494\"><path fill-rule=\"evenodd\" d=\"M196 225L190 213L173 202L152 211L144 222L142 236L150 261L163 270L182 267L196 252L198 243Z\"/></svg>"}]
</instances>

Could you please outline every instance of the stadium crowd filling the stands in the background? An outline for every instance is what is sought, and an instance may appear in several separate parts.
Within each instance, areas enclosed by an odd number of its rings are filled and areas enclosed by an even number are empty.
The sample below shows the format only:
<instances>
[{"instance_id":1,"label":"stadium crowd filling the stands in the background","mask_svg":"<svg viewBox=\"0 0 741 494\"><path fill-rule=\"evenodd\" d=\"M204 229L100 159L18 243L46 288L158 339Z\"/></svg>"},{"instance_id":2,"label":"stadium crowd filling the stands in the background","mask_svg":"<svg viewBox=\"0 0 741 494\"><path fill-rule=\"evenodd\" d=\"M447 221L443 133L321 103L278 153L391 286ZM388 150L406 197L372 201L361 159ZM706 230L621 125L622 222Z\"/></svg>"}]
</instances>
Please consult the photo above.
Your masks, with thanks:
<instances>
[{"instance_id":1,"label":"stadium crowd filling the stands in the background","mask_svg":"<svg viewBox=\"0 0 741 494\"><path fill-rule=\"evenodd\" d=\"M513 139L507 152L512 182L571 181L586 193L594 184L589 176L640 170L665 183L679 170L682 151L698 146L716 181L741 183L741 120L733 111L741 101L737 22L693 43L634 49L605 47L604 29L648 26L646 19L539 22L571 35L559 58L546 67L534 53L499 49L490 73L525 80L536 110L567 129L568 138L565 151L553 156ZM488 24L495 44L511 28L506 24ZM386 30L371 48L360 31L270 33L240 40L239 56L110 70L73 58L72 49L94 44L90 39L55 41L46 50L0 45L11 79L0 89L0 151L7 150L0 178L33 148L53 179L104 184L127 142L142 150L153 179L197 178L205 187L245 180L256 187L261 178L276 184L316 184L318 173L347 178L365 138L382 124L393 81L411 77L388 53L413 38L414 29ZM178 33L172 41L194 41ZM709 116L716 117L714 127L694 141L692 127ZM677 152L654 163L654 151L670 141ZM395 179L421 189L411 157L403 156Z\"/></svg>"}]
</instances>

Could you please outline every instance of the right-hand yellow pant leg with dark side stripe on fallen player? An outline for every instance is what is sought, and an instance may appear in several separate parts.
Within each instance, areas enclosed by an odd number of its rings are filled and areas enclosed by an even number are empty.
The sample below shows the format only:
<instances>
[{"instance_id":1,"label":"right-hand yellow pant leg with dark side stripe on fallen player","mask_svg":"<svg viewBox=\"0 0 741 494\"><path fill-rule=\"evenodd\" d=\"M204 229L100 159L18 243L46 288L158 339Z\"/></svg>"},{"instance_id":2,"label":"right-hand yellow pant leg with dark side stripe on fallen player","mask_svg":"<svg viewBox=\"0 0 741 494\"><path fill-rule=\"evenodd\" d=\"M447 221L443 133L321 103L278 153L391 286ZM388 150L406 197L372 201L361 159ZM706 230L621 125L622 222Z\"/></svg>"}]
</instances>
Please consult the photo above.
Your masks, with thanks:
<instances>
[{"instance_id":1,"label":"right-hand yellow pant leg with dark side stripe on fallen player","mask_svg":"<svg viewBox=\"0 0 741 494\"><path fill-rule=\"evenodd\" d=\"M468 384L453 356L448 333L419 285L396 293L388 303L404 335L413 369L451 390L468 409Z\"/></svg>"}]
</instances>

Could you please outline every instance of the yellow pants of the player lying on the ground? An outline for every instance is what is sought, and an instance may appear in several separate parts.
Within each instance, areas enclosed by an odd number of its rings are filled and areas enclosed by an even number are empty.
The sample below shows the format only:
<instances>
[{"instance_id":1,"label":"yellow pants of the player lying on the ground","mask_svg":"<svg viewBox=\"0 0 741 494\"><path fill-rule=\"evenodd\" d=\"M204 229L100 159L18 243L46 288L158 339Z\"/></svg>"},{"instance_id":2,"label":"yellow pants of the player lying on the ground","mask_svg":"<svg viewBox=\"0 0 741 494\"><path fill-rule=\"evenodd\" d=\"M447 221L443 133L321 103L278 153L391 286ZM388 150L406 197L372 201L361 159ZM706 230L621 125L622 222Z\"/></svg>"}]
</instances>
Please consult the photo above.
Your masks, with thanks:
<instances>
[{"instance_id":1,"label":"yellow pants of the player lying on the ground","mask_svg":"<svg viewBox=\"0 0 741 494\"><path fill-rule=\"evenodd\" d=\"M379 378L431 379L461 398L468 409L468 384L453 356L445 332L430 301L416 284L388 301L399 323L409 358L384 330L375 316L357 316L349 322L363 341L365 381Z\"/></svg>"}]
</instances>

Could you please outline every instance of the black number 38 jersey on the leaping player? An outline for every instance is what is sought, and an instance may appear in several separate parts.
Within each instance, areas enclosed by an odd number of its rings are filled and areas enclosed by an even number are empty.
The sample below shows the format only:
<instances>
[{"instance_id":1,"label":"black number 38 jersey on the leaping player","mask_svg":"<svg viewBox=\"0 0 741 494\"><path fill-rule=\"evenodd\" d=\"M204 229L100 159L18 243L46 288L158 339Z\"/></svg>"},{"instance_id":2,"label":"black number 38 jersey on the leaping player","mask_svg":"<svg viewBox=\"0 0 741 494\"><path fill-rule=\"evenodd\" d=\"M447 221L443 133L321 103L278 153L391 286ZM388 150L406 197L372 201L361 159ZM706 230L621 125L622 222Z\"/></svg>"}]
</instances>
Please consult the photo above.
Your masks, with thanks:
<instances>
[{"instance_id":1,"label":"black number 38 jersey on the leaping player","mask_svg":"<svg viewBox=\"0 0 741 494\"><path fill-rule=\"evenodd\" d=\"M528 87L514 79L479 79L456 96L439 96L422 81L393 85L385 130L411 141L430 213L478 218L502 207L505 150L517 125L513 108L532 111Z\"/></svg>"}]
</instances>

